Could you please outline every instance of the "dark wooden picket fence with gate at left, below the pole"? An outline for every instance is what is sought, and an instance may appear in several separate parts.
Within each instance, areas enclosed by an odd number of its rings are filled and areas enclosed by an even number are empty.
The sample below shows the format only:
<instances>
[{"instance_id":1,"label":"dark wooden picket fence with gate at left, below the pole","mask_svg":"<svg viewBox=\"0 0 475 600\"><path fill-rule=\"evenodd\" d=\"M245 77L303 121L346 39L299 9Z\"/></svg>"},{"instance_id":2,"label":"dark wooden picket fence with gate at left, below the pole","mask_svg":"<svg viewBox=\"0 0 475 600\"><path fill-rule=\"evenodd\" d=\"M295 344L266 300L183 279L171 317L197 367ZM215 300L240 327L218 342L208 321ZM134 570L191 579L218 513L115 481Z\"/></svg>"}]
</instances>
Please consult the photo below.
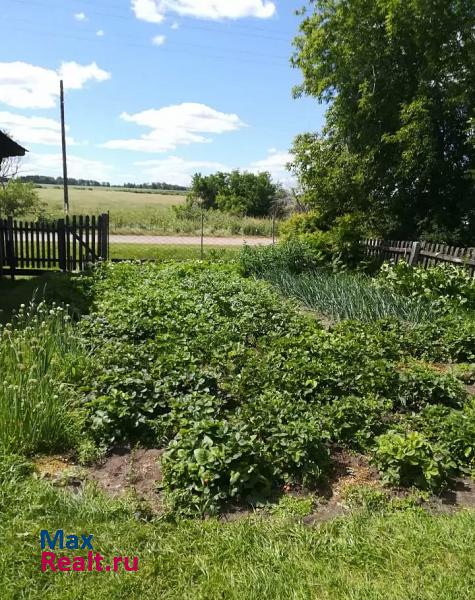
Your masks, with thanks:
<instances>
[{"instance_id":1,"label":"dark wooden picket fence with gate at left, below the pole","mask_svg":"<svg viewBox=\"0 0 475 600\"><path fill-rule=\"evenodd\" d=\"M109 256L109 215L31 223L0 219L0 276L83 271Z\"/></svg>"}]
</instances>

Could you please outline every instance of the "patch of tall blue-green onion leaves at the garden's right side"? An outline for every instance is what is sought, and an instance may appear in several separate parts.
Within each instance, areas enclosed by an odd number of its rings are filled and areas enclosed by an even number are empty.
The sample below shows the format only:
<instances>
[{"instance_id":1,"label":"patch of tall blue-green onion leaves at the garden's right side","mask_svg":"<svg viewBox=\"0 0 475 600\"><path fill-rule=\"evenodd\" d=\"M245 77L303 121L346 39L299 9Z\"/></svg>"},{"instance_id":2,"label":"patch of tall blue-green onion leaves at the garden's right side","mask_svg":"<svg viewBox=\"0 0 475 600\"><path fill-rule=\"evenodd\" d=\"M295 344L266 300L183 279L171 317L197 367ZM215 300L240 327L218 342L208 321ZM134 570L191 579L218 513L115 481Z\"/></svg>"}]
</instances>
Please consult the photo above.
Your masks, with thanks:
<instances>
[{"instance_id":1,"label":"patch of tall blue-green onion leaves at the garden's right side","mask_svg":"<svg viewBox=\"0 0 475 600\"><path fill-rule=\"evenodd\" d=\"M360 273L315 271L292 274L285 269L268 270L263 277L286 296L333 320L374 321L396 317L419 323L433 316L426 300L408 298Z\"/></svg>"}]
</instances>

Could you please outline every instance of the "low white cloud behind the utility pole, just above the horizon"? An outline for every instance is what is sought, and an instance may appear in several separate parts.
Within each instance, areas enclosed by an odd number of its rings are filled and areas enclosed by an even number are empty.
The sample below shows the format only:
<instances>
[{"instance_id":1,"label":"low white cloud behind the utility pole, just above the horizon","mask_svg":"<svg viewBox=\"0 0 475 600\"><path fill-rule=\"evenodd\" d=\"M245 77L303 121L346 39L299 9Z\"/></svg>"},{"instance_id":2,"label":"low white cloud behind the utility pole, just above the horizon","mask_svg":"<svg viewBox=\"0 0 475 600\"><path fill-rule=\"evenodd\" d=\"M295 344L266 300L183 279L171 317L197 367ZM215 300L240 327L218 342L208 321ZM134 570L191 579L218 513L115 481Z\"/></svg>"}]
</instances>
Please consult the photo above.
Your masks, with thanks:
<instances>
[{"instance_id":1,"label":"low white cloud behind the utility pole, just above the horizon","mask_svg":"<svg viewBox=\"0 0 475 600\"><path fill-rule=\"evenodd\" d=\"M61 154L30 153L21 163L21 175L50 175L59 177L63 173ZM114 168L99 160L90 160L68 155L68 176L77 179L96 179L110 181L114 177Z\"/></svg>"}]
</instances>

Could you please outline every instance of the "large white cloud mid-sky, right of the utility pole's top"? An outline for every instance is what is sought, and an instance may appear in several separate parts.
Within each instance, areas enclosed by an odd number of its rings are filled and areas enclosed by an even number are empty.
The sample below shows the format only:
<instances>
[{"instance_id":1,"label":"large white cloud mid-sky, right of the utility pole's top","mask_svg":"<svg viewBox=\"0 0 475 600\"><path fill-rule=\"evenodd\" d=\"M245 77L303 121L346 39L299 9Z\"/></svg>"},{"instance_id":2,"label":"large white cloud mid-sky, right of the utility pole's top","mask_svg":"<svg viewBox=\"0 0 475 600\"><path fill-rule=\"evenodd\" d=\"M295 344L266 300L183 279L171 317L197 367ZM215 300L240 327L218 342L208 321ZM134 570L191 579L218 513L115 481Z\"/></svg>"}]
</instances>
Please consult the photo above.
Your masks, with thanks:
<instances>
[{"instance_id":1,"label":"large white cloud mid-sky, right of the utility pole's top","mask_svg":"<svg viewBox=\"0 0 475 600\"><path fill-rule=\"evenodd\" d=\"M193 102L145 110L134 115L122 113L121 119L148 127L151 131L138 139L110 140L103 144L105 148L167 152L183 144L212 141L202 134L220 134L245 126L236 114L219 112Z\"/></svg>"}]
</instances>

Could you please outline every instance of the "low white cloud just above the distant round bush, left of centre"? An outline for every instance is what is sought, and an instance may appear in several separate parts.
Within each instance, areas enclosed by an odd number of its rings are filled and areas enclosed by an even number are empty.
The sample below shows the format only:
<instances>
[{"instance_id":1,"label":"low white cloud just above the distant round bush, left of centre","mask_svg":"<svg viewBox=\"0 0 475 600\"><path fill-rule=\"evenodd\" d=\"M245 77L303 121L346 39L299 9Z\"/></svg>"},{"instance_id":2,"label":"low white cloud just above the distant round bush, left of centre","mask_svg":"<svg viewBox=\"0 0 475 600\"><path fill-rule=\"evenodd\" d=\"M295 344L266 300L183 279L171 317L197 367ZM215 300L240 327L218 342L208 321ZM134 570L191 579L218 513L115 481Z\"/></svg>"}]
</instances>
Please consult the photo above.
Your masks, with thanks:
<instances>
[{"instance_id":1,"label":"low white cloud just above the distant round bush, left of centre","mask_svg":"<svg viewBox=\"0 0 475 600\"><path fill-rule=\"evenodd\" d=\"M166 181L173 185L189 185L192 176L198 172L209 174L230 170L229 166L220 162L184 160L178 156L169 156L163 160L138 161L134 166L140 168L141 180Z\"/></svg>"}]
</instances>

